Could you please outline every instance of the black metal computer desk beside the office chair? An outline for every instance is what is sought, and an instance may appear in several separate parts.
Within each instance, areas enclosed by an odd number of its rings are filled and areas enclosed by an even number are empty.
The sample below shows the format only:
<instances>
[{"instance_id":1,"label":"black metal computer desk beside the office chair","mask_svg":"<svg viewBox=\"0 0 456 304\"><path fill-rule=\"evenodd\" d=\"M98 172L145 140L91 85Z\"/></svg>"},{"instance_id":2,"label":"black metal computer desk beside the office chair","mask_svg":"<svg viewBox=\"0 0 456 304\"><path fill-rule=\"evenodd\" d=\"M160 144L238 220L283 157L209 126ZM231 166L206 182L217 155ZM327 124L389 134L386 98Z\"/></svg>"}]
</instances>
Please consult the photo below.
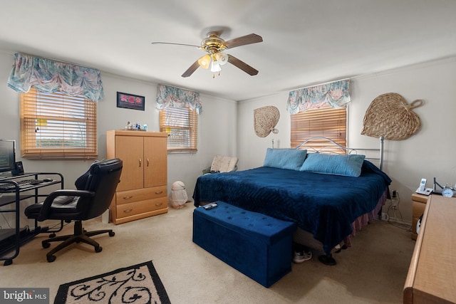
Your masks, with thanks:
<instances>
[{"instance_id":1,"label":"black metal computer desk beside the office chair","mask_svg":"<svg viewBox=\"0 0 456 304\"><path fill-rule=\"evenodd\" d=\"M45 179L51 178L52 182L43 182L41 184L31 185L30 187L21 188L16 186L13 190L8 192L0 191L0 213L14 213L15 214L15 225L14 229L0 229L0 261L4 261L4 266L11 265L13 259L19 255L19 248L21 245L33 239L34 236L42 232L56 232L48 231L47 229L41 229L38 226L38 222L35 221L33 229L21 228L20 225L20 203L24 199L34 199L34 203L37 204L40 198L48 196L39 191L41 188L50 187L54 184L60 184L60 188L63 189L63 175L56 172L33 172L25 173L19 176L0 177L0 184L9 183L14 184L24 179ZM16 185L16 184L14 184ZM12 209L1 209L4 206L14 206ZM62 228L62 227L61 227ZM60 230L60 229L59 229Z\"/></svg>"}]
</instances>

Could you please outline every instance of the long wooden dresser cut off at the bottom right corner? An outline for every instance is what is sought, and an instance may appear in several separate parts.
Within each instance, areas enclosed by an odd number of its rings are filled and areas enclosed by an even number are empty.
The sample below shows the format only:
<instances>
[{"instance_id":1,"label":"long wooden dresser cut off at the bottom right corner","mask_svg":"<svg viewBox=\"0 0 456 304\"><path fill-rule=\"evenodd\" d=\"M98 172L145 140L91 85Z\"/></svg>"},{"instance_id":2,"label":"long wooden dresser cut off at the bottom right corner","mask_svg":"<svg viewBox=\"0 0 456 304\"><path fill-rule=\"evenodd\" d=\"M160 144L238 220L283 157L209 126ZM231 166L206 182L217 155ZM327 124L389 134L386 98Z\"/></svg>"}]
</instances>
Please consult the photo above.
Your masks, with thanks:
<instances>
[{"instance_id":1,"label":"long wooden dresser cut off at the bottom right corner","mask_svg":"<svg viewBox=\"0 0 456 304\"><path fill-rule=\"evenodd\" d=\"M432 194L405 281L403 303L456 303L456 198Z\"/></svg>"}]
</instances>

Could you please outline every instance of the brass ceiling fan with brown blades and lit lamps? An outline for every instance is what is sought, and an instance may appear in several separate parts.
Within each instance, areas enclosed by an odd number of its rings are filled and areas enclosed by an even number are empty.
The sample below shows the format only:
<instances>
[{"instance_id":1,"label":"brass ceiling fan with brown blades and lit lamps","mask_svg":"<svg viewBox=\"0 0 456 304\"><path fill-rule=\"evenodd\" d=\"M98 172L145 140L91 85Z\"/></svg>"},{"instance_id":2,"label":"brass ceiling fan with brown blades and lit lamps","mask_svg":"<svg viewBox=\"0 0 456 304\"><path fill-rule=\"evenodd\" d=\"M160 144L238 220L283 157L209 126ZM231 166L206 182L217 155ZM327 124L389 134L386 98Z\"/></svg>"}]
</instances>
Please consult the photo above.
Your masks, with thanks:
<instances>
[{"instance_id":1,"label":"brass ceiling fan with brown blades and lit lamps","mask_svg":"<svg viewBox=\"0 0 456 304\"><path fill-rule=\"evenodd\" d=\"M195 63L190 65L183 74L182 77L189 77L192 75L197 68L211 68L211 72L213 73L220 73L222 70L222 65L226 63L231 63L232 65L240 68L245 73L249 75L257 75L258 70L252 68L252 66L244 63L244 61L239 60L238 58L224 53L225 50L229 48L236 48L237 46L245 46L247 44L252 43L259 43L263 41L261 36L258 36L255 33L251 33L246 36L241 36L238 38L233 38L228 41L224 41L223 38L220 37L222 34L221 31L209 31L207 33L207 37L201 41L201 46L195 46L202 51L205 51L207 54L199 58ZM178 46L194 46L191 44L184 44L184 43L168 43L168 42L152 42L152 44L174 44ZM215 74L212 75L215 77Z\"/></svg>"}]
</instances>

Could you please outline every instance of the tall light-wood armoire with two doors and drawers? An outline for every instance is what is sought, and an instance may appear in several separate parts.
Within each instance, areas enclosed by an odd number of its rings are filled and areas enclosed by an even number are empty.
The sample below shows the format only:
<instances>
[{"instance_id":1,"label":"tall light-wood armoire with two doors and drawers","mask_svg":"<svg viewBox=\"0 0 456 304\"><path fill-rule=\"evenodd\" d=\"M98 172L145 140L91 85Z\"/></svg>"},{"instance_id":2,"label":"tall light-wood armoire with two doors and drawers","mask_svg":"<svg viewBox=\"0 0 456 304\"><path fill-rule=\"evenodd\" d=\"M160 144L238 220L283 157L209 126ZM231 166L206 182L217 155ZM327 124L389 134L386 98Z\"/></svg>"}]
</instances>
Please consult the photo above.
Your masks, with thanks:
<instances>
[{"instance_id":1,"label":"tall light-wood armoire with two doors and drawers","mask_svg":"<svg viewBox=\"0 0 456 304\"><path fill-rule=\"evenodd\" d=\"M123 160L122 175L110 205L110 220L122 224L167 209L167 134L110 130L107 157Z\"/></svg>"}]
</instances>

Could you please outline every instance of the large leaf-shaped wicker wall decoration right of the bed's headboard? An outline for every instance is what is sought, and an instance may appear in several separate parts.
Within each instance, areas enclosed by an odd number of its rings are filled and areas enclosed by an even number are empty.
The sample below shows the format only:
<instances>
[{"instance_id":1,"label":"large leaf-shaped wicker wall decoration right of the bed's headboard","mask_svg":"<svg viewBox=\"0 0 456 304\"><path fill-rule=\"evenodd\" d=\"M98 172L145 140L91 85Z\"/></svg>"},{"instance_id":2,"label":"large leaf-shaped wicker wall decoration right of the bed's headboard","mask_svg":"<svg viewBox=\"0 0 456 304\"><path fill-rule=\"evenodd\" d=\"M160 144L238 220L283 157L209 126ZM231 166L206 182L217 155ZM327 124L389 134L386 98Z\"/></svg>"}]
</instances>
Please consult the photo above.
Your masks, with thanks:
<instances>
[{"instance_id":1,"label":"large leaf-shaped wicker wall decoration right of the bed's headboard","mask_svg":"<svg viewBox=\"0 0 456 304\"><path fill-rule=\"evenodd\" d=\"M385 140L405 140L420 129L420 117L412 111L420 105L423 100L408 105L398 93L379 95L366 110L361 134L383 136Z\"/></svg>"}]
</instances>

